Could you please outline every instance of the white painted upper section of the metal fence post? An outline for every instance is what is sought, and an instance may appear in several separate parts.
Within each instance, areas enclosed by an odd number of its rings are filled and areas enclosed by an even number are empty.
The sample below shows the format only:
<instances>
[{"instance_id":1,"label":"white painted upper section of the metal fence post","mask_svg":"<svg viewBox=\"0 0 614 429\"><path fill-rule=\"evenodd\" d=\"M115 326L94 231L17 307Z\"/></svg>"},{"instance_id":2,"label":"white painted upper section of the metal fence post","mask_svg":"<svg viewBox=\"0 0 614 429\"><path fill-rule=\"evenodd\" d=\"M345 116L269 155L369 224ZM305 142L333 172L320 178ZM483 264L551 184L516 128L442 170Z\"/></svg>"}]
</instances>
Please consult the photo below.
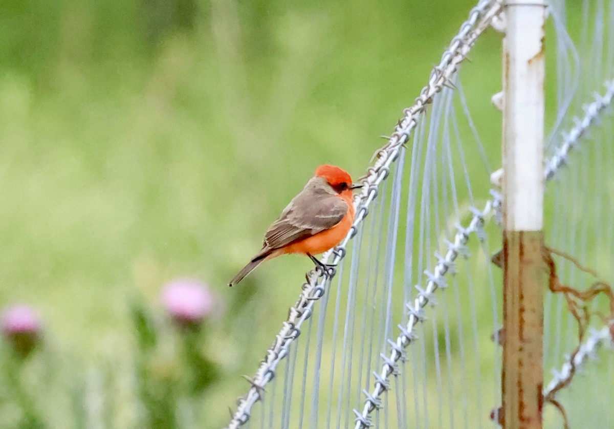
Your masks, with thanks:
<instances>
[{"instance_id":1,"label":"white painted upper section of the metal fence post","mask_svg":"<svg viewBox=\"0 0 614 429\"><path fill-rule=\"evenodd\" d=\"M508 5L503 58L503 228L543 226L543 37L545 0Z\"/></svg>"}]
</instances>

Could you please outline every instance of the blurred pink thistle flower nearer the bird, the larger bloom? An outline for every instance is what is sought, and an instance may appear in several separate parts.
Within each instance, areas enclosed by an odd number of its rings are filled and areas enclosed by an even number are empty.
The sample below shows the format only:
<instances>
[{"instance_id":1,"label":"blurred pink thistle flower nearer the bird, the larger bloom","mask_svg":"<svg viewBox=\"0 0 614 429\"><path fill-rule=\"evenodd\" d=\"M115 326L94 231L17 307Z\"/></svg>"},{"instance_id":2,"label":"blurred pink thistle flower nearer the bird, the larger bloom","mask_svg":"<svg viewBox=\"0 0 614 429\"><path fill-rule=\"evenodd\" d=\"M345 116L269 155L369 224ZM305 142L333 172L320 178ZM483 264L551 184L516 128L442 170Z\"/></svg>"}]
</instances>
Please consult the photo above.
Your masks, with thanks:
<instances>
[{"instance_id":1,"label":"blurred pink thistle flower nearer the bird, the larger bloom","mask_svg":"<svg viewBox=\"0 0 614 429\"><path fill-rule=\"evenodd\" d=\"M216 299L196 280L174 280L162 291L162 304L179 325L198 325L214 312Z\"/></svg>"}]
</instances>

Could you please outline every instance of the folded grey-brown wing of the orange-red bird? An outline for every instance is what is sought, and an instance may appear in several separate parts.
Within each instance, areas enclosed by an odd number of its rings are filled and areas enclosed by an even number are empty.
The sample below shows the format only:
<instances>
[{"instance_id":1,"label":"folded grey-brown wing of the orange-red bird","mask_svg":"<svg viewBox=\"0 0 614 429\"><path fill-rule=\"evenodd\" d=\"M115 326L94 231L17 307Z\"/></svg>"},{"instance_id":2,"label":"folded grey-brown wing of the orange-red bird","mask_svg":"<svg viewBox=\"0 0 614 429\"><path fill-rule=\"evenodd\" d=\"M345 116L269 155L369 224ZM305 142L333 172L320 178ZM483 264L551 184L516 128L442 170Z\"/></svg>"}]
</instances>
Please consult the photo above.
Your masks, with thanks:
<instances>
[{"instance_id":1,"label":"folded grey-brown wing of the orange-red bird","mask_svg":"<svg viewBox=\"0 0 614 429\"><path fill-rule=\"evenodd\" d=\"M338 196L304 189L269 227L263 250L274 250L329 229L348 213L348 204Z\"/></svg>"}]
</instances>

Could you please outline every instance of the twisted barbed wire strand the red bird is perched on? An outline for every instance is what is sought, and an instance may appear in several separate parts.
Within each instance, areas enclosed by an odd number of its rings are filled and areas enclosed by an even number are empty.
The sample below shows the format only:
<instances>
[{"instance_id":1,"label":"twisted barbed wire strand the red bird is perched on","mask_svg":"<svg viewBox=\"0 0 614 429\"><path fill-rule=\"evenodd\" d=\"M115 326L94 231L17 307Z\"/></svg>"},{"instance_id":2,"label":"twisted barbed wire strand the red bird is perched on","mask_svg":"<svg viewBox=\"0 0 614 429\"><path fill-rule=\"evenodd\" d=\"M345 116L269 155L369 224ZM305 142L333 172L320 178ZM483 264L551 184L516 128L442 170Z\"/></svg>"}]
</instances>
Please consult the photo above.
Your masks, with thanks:
<instances>
[{"instance_id":1,"label":"twisted barbed wire strand the red bird is perched on","mask_svg":"<svg viewBox=\"0 0 614 429\"><path fill-rule=\"evenodd\" d=\"M478 36L488 28L492 18L501 9L500 0L481 0L471 10L468 20L461 25L461 30L453 37L448 49L444 51L439 65L433 68L429 83L421 90L413 106L403 110L403 117L395 127L394 133L389 137L387 144L375 152L375 163L373 167L368 168L367 175L361 178L364 186L361 194L356 195L354 199L354 207L356 207L354 223L343 242L324 254L323 259L327 261L327 264L338 264L344 258L349 240L356 235L359 224L367 216L368 208L378 194L379 183L389 175L390 167L397 159L403 144L408 141L411 132L418 125L418 117L426 111L426 106L432 103L433 96L450 85L450 78L467 57ZM279 362L288 355L290 344L300 336L301 325L311 317L315 302L324 295L326 285L334 275L334 268L324 270L319 267L314 270L311 277L308 274L308 281L303 283L303 292L298 297L296 304L290 308L287 320L283 323L273 345L266 350L266 356L255 376L246 377L251 388L246 396L239 399L236 412L227 426L228 429L239 428L249 420L252 406L263 398L265 385L273 379Z\"/></svg>"}]
</instances>

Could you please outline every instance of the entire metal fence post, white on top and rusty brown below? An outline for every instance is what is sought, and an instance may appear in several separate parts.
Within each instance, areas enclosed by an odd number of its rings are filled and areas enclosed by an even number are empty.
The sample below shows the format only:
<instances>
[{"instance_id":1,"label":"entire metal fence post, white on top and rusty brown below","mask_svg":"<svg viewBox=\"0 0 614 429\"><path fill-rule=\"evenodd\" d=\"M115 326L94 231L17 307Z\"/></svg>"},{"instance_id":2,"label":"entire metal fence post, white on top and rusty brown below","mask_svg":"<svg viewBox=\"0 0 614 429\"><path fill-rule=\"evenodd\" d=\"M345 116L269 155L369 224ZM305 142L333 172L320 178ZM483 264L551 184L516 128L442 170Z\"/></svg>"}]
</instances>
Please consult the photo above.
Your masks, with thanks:
<instances>
[{"instance_id":1,"label":"entire metal fence post, white on top and rusty brown below","mask_svg":"<svg viewBox=\"0 0 614 429\"><path fill-rule=\"evenodd\" d=\"M505 10L503 43L503 415L542 428L543 37L545 0Z\"/></svg>"}]
</instances>

